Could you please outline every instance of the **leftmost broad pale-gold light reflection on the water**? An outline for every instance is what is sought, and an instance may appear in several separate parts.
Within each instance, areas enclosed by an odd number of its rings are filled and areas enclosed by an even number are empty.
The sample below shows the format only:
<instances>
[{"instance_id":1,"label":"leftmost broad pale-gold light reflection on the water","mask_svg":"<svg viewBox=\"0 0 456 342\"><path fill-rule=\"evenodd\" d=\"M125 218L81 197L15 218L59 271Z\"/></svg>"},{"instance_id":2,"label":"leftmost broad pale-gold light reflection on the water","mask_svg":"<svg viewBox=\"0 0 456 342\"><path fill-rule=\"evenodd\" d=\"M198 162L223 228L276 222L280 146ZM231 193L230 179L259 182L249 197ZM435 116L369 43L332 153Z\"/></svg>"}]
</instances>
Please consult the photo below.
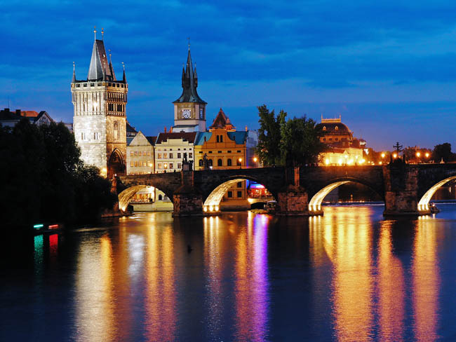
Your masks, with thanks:
<instances>
[{"instance_id":1,"label":"leftmost broad pale-gold light reflection on the water","mask_svg":"<svg viewBox=\"0 0 456 342\"><path fill-rule=\"evenodd\" d=\"M113 321L112 247L105 235L99 241L82 241L76 273L76 339L111 341Z\"/></svg>"}]
</instances>

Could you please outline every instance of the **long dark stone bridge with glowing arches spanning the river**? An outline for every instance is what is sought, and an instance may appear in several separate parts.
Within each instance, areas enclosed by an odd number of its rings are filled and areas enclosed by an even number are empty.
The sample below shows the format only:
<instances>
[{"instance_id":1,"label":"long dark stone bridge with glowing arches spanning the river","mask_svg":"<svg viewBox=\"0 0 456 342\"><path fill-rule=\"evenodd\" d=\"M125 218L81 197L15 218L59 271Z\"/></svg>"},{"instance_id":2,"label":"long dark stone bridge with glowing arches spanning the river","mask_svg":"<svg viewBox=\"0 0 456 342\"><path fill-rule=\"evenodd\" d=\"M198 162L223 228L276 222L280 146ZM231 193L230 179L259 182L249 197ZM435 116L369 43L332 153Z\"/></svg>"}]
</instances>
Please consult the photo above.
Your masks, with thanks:
<instances>
[{"instance_id":1,"label":"long dark stone bridge with glowing arches spanning the river","mask_svg":"<svg viewBox=\"0 0 456 342\"><path fill-rule=\"evenodd\" d=\"M119 207L126 210L137 191L154 186L173 200L177 216L217 212L227 189L244 179L263 184L276 198L279 214L323 214L321 202L331 190L356 182L383 198L384 214L419 215L429 214L429 200L436 190L456 179L456 164L405 165L398 160L384 166L262 167L123 176L119 181L126 189L119 193Z\"/></svg>"}]
</instances>

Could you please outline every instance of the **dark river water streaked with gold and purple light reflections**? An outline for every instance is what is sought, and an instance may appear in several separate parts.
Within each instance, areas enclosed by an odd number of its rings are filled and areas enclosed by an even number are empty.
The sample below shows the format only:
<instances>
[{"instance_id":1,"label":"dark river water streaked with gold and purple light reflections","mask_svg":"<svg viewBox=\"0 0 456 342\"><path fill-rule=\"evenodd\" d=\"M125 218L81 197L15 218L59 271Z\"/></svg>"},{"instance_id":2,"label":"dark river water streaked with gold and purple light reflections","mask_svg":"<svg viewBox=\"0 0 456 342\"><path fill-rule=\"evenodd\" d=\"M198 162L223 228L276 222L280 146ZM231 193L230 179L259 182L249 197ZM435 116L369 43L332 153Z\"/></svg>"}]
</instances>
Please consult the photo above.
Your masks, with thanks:
<instances>
[{"instance_id":1,"label":"dark river water streaked with gold and purple light reflections","mask_svg":"<svg viewBox=\"0 0 456 342\"><path fill-rule=\"evenodd\" d=\"M0 341L456 341L456 205L439 207L138 213L4 240Z\"/></svg>"}]
</instances>

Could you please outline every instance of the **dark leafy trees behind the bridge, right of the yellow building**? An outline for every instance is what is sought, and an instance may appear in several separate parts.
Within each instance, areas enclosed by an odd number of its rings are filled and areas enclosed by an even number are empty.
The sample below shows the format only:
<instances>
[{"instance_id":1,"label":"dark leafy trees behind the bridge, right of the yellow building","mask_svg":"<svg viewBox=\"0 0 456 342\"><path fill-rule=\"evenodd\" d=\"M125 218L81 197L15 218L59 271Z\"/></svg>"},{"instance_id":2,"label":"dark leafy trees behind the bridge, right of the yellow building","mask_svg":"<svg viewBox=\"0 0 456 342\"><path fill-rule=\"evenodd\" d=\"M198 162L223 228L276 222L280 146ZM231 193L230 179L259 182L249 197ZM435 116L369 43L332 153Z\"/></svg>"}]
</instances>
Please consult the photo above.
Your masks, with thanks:
<instances>
[{"instance_id":1,"label":"dark leafy trees behind the bridge, right of the yellow building","mask_svg":"<svg viewBox=\"0 0 456 342\"><path fill-rule=\"evenodd\" d=\"M258 107L260 130L257 155L263 165L302 166L318 162L318 155L326 149L320 142L315 121L302 118L286 120L283 110L276 116L266 105Z\"/></svg>"}]
</instances>

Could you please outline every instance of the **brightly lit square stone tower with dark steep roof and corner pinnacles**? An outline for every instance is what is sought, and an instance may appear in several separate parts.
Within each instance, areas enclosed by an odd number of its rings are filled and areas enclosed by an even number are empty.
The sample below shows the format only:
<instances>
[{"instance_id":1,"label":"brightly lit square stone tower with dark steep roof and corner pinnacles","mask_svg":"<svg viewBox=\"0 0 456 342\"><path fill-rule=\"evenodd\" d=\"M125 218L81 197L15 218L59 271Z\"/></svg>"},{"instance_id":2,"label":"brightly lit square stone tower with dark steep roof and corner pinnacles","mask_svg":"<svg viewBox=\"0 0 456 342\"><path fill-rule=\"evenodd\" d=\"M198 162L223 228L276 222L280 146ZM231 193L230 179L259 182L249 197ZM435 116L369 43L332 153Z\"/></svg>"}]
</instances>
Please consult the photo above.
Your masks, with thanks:
<instances>
[{"instance_id":1,"label":"brightly lit square stone tower with dark steep roof and corner pinnacles","mask_svg":"<svg viewBox=\"0 0 456 342\"><path fill-rule=\"evenodd\" d=\"M74 138L81 149L81 159L95 165L109 179L126 172L126 104L128 84L116 79L105 43L93 42L86 80L77 80L73 64L72 102Z\"/></svg>"}]
</instances>

